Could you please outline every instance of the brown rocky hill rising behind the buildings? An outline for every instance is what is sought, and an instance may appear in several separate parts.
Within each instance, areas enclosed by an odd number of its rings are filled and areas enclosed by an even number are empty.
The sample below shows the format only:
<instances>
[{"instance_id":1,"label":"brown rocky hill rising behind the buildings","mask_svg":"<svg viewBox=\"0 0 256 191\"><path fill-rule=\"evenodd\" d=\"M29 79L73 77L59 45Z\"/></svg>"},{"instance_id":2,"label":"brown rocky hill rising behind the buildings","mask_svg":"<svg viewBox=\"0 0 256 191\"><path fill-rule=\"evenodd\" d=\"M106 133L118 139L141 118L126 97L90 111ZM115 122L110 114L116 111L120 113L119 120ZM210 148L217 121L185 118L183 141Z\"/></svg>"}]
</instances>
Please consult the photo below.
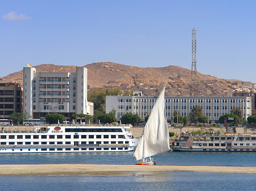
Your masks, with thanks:
<instances>
[{"instance_id":1,"label":"brown rocky hill rising behind the buildings","mask_svg":"<svg viewBox=\"0 0 256 191\"><path fill-rule=\"evenodd\" d=\"M74 73L76 67L42 64L34 66L37 72ZM121 87L122 90L143 91L143 95L156 96L166 82L167 95L189 96L191 70L180 66L135 67L114 62L97 62L82 66L88 69L89 88ZM23 70L1 78L2 82L23 83ZM233 90L250 86L250 82L219 79L197 73L200 96L231 96Z\"/></svg>"}]
</instances>

